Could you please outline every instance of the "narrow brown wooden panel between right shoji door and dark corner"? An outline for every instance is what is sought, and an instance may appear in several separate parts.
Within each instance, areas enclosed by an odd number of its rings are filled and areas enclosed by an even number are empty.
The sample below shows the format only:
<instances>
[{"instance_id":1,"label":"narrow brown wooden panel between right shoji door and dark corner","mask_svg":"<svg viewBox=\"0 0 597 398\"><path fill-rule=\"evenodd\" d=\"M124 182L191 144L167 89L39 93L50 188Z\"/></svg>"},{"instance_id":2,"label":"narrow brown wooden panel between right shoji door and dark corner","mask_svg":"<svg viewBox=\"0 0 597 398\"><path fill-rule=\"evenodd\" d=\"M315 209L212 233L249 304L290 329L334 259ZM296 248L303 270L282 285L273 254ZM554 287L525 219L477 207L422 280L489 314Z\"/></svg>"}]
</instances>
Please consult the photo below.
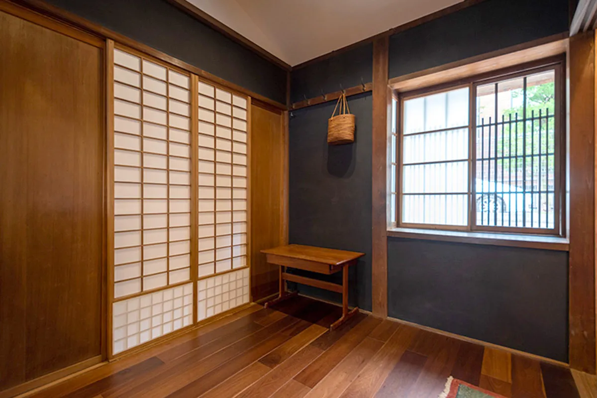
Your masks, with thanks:
<instances>
[{"instance_id":1,"label":"narrow brown wooden panel between right shoji door and dark corner","mask_svg":"<svg viewBox=\"0 0 597 398\"><path fill-rule=\"evenodd\" d=\"M284 115L251 105L251 294L253 301L278 291L278 267L261 249L288 242L286 216L287 129Z\"/></svg>"}]
</instances>

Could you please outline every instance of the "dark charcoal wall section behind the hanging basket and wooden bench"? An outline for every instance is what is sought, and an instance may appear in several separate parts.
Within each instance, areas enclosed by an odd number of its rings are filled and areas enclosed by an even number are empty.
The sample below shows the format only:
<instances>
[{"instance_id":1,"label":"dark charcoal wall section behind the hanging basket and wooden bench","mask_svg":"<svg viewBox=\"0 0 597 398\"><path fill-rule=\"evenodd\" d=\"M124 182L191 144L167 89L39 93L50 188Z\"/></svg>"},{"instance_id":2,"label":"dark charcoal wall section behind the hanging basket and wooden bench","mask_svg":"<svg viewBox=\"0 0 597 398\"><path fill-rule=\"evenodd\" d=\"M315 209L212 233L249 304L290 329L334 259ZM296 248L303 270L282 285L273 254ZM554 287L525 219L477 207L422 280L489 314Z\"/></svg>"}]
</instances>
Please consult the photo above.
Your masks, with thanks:
<instances>
[{"instance_id":1,"label":"dark charcoal wall section behind the hanging basket and wooden bench","mask_svg":"<svg viewBox=\"0 0 597 398\"><path fill-rule=\"evenodd\" d=\"M371 309L371 118L370 93L349 97L356 116L355 142L328 145L334 103L293 111L290 119L290 243L365 253L349 272L349 303ZM341 282L341 273L297 274ZM298 286L306 295L340 301L340 295Z\"/></svg>"}]
</instances>

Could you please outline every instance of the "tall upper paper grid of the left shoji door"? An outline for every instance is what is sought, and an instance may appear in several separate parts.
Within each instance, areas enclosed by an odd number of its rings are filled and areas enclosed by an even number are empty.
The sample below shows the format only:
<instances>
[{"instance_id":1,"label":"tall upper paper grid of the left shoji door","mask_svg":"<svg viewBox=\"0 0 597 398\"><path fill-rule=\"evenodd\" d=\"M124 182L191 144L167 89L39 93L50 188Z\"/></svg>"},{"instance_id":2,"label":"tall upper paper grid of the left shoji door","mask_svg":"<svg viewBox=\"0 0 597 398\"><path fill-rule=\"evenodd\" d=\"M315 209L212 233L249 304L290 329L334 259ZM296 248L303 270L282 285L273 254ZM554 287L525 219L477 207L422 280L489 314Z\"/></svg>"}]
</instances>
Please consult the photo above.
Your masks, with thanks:
<instances>
[{"instance_id":1,"label":"tall upper paper grid of the left shoji door","mask_svg":"<svg viewBox=\"0 0 597 398\"><path fill-rule=\"evenodd\" d=\"M114 97L119 298L190 280L190 76L116 49Z\"/></svg>"}]
</instances>

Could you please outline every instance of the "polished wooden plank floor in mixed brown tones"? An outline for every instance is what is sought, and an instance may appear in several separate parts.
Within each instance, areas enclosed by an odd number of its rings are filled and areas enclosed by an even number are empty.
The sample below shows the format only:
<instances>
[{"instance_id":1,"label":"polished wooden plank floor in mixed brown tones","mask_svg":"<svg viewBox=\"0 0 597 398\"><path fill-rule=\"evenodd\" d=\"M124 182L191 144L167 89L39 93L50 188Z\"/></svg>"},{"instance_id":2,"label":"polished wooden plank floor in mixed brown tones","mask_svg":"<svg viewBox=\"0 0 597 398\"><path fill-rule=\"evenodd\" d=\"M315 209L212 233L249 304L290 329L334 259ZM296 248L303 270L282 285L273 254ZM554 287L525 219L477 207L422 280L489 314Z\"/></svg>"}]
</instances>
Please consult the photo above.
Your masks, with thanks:
<instances>
[{"instance_id":1,"label":"polished wooden plank floor in mixed brown tones","mask_svg":"<svg viewBox=\"0 0 597 398\"><path fill-rule=\"evenodd\" d=\"M339 310L253 304L33 396L436 398L453 375L506 397L579 397L566 368L389 320L358 314L329 331Z\"/></svg>"}]
</instances>

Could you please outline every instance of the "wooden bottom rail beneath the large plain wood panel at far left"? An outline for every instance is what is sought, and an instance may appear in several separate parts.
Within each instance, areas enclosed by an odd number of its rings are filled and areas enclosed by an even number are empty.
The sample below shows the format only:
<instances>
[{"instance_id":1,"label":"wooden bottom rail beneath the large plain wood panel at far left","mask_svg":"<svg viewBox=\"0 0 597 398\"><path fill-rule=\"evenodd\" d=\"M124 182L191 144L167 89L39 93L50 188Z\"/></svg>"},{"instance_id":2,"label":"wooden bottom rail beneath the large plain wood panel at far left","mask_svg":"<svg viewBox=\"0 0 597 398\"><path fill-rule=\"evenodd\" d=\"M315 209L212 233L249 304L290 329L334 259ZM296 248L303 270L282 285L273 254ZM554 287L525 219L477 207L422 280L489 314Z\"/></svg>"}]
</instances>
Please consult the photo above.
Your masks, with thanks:
<instances>
[{"instance_id":1,"label":"wooden bottom rail beneath the large plain wood panel at far left","mask_svg":"<svg viewBox=\"0 0 597 398\"><path fill-rule=\"evenodd\" d=\"M75 377L83 372L87 372L90 369L95 369L98 366L102 366L104 363L106 362L102 362L101 355L91 357L90 359L85 359L81 362L75 363L74 365L67 366L66 368L59 369L47 375L26 381L19 385L15 385L14 387L10 387L8 390L0 391L0 398L29 396L30 394L33 394L42 388L50 387L50 385L63 382L71 377Z\"/></svg>"}]
</instances>

